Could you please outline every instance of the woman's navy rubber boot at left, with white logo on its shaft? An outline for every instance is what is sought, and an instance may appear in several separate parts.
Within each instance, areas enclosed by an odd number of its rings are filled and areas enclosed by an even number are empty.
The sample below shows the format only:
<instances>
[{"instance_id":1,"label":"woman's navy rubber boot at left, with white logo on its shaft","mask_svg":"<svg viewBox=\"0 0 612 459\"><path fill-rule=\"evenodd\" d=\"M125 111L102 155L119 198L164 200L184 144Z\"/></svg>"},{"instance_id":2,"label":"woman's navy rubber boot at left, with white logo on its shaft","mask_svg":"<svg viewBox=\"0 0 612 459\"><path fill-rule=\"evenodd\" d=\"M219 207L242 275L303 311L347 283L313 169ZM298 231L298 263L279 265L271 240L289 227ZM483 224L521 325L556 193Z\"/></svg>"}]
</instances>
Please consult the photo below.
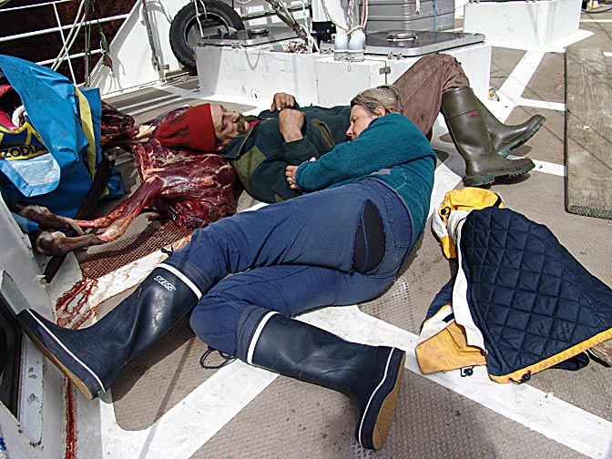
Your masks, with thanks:
<instances>
[{"instance_id":1,"label":"woman's navy rubber boot at left, with white logo on its shaft","mask_svg":"<svg viewBox=\"0 0 612 459\"><path fill-rule=\"evenodd\" d=\"M70 330L36 311L17 314L21 328L88 398L105 393L118 372L157 342L208 289L199 271L160 264L93 325Z\"/></svg>"}]
</instances>

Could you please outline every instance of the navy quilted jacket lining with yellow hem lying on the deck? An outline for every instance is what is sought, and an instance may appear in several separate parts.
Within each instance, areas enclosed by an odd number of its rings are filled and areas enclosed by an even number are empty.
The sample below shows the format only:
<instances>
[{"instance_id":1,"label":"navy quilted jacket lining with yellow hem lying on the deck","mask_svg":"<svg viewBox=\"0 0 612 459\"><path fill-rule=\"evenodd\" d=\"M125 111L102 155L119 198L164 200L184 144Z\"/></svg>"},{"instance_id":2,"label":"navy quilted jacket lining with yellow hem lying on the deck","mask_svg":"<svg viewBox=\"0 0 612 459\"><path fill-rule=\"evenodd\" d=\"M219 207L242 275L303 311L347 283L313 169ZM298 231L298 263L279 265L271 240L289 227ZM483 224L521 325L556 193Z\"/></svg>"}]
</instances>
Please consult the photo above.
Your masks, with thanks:
<instances>
[{"instance_id":1,"label":"navy quilted jacket lining with yellow hem lying on the deck","mask_svg":"<svg viewBox=\"0 0 612 459\"><path fill-rule=\"evenodd\" d=\"M525 382L612 338L612 290L545 226L510 209L472 210L459 247L465 298L494 381ZM457 283L438 293L428 315L451 302Z\"/></svg>"}]
</instances>

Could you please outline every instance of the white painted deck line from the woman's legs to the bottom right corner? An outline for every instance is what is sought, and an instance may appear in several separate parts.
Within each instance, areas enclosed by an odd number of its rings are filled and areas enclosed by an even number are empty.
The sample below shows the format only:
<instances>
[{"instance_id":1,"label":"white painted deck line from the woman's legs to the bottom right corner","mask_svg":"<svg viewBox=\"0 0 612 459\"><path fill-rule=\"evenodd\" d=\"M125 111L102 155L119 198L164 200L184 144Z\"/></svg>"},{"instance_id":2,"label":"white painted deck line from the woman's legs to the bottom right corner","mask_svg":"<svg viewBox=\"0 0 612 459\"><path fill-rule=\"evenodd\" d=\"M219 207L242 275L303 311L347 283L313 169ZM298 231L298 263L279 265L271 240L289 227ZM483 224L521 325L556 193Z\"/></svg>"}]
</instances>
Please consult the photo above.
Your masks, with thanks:
<instances>
[{"instance_id":1,"label":"white painted deck line from the woman's legs to the bottom right corner","mask_svg":"<svg viewBox=\"0 0 612 459\"><path fill-rule=\"evenodd\" d=\"M414 352L418 336L375 319L356 306L326 308L303 319L346 340L400 347L407 352L406 368L423 375ZM597 458L612 454L612 423L533 386L493 382L485 367L474 368L474 375L469 378L461 377L459 372L423 377L578 453Z\"/></svg>"}]
</instances>

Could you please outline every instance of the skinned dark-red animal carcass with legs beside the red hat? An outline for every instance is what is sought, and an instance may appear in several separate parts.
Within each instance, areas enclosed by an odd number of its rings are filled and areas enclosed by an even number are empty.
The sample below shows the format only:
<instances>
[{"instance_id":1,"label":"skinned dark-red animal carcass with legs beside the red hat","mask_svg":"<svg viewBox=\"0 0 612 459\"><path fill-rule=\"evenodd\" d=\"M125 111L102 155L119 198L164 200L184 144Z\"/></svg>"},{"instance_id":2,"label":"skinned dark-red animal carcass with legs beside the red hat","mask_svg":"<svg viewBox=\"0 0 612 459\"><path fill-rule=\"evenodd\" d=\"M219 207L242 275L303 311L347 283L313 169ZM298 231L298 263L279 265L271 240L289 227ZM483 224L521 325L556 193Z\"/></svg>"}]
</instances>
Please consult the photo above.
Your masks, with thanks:
<instances>
[{"instance_id":1,"label":"skinned dark-red animal carcass with legs beside the red hat","mask_svg":"<svg viewBox=\"0 0 612 459\"><path fill-rule=\"evenodd\" d=\"M131 117L104 104L102 147L121 146L131 151L140 186L105 217L71 220L82 229L104 231L99 234L77 231L74 237L61 231L43 231L36 238L36 250L44 255L63 255L71 250L117 240L144 211L172 219L183 228L202 228L233 214L236 172L230 162L216 153L164 147L156 137L155 128L187 109L177 108L148 124L135 127ZM32 212L36 212L36 209L24 209L22 213L25 210L30 212L31 218ZM48 214L46 219L53 220ZM66 219L60 221L66 226ZM69 226L76 230L75 224Z\"/></svg>"}]
</instances>

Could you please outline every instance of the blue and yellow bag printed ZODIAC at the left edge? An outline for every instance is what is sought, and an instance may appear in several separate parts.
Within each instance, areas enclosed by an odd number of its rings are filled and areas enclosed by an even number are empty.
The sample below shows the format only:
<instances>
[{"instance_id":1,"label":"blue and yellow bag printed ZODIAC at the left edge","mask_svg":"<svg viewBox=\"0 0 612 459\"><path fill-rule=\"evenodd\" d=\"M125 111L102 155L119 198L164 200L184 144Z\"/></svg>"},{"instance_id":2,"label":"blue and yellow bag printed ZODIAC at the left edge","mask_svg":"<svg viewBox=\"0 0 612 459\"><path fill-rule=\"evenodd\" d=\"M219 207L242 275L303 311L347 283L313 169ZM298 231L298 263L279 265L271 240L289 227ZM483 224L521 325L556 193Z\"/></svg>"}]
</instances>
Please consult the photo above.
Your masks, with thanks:
<instances>
[{"instance_id":1,"label":"blue and yellow bag printed ZODIAC at the left edge","mask_svg":"<svg viewBox=\"0 0 612 459\"><path fill-rule=\"evenodd\" d=\"M99 91L79 90L54 70L14 56L0 55L0 70L26 111L25 122L18 127L3 126L6 119L0 117L3 198L36 203L73 218L103 158ZM124 194L116 168L104 194L109 198ZM26 230L35 229L36 224L28 222Z\"/></svg>"}]
</instances>

